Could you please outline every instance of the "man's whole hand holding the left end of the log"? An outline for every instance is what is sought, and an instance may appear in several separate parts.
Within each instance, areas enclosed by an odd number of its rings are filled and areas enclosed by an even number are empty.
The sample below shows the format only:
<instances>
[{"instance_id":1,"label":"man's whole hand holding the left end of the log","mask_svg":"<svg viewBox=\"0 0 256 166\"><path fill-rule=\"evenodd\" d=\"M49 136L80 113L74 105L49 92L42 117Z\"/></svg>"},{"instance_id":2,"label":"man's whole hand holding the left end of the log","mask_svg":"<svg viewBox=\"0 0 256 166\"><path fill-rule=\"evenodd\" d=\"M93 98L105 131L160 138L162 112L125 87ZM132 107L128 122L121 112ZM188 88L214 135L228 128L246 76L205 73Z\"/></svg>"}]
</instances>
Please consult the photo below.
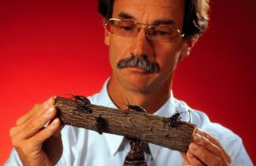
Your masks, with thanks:
<instances>
[{"instance_id":1,"label":"man's whole hand holding the left end of the log","mask_svg":"<svg viewBox=\"0 0 256 166\"><path fill-rule=\"evenodd\" d=\"M9 135L24 165L53 165L62 155L61 128L54 97L36 104L17 120ZM50 121L50 124L44 127Z\"/></svg>"}]
</instances>

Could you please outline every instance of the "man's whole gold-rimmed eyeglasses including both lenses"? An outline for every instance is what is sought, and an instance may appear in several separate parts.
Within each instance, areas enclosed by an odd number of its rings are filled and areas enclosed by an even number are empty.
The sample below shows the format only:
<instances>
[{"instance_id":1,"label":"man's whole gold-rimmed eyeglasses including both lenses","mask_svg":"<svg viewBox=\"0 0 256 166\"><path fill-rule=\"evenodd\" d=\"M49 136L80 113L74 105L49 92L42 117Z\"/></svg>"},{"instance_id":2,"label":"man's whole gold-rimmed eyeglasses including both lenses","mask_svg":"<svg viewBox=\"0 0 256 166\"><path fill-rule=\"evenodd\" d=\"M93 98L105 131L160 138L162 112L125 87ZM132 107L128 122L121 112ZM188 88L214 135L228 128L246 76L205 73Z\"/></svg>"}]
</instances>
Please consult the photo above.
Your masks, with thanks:
<instances>
[{"instance_id":1,"label":"man's whole gold-rimmed eyeglasses including both lenses","mask_svg":"<svg viewBox=\"0 0 256 166\"><path fill-rule=\"evenodd\" d=\"M147 38L158 42L172 42L175 38L184 37L184 34L181 34L179 29L172 26L156 26L114 18L107 20L104 25L106 26L106 30L110 33L126 37L136 36L142 29L142 25L146 25Z\"/></svg>"}]
</instances>

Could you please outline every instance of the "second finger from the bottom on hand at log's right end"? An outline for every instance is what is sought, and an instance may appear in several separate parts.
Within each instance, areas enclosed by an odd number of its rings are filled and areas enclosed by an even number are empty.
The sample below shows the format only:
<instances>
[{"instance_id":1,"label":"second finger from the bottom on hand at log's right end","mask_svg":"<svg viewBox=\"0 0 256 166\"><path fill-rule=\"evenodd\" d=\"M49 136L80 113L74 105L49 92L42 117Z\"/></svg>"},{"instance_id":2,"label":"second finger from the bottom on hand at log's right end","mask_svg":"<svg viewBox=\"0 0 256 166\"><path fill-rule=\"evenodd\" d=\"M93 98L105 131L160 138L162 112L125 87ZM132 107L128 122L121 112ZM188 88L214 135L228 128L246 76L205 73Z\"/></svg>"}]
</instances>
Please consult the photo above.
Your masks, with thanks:
<instances>
[{"instance_id":1,"label":"second finger from the bottom on hand at log's right end","mask_svg":"<svg viewBox=\"0 0 256 166\"><path fill-rule=\"evenodd\" d=\"M217 157L213 153L210 153L210 151L195 143L190 144L189 151L207 165L228 165L226 161L221 161L220 157Z\"/></svg>"}]
</instances>

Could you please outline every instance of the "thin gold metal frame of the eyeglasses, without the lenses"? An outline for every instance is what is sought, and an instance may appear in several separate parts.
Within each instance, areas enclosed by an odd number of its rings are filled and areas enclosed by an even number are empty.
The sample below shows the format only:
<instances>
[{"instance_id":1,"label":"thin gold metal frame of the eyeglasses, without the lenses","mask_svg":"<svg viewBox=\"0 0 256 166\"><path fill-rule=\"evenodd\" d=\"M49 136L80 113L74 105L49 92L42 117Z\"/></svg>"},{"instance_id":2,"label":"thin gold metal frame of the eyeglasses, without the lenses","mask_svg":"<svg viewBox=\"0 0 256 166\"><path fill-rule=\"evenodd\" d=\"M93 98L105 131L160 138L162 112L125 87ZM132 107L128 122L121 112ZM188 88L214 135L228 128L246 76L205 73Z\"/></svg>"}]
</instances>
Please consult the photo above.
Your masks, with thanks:
<instances>
[{"instance_id":1,"label":"thin gold metal frame of the eyeglasses, without the lenses","mask_svg":"<svg viewBox=\"0 0 256 166\"><path fill-rule=\"evenodd\" d=\"M109 20L106 20L105 23L103 23L103 25L106 27L107 24L111 21L111 20L117 20L117 21L124 21L124 22L132 22L132 23L135 23L135 25L137 27L139 27L139 31L142 29L141 25L146 25L147 27L144 27L144 29L146 29L145 33L146 33L146 37L148 37L148 31L150 30L150 27L171 27L173 30L175 30L177 32L177 34L180 36L180 38L184 38L185 34L182 34L180 29L176 28L176 27L173 27L173 26L158 26L158 25L152 25L152 24L147 24L147 23L138 23L136 21L132 21L132 20L122 20L122 19L117 19L117 18L110 18ZM106 28L107 29L107 28ZM137 32L137 34L139 34L139 31ZM111 34L114 34L113 32L109 31L109 33ZM137 35L136 34L136 35ZM120 34L117 34L117 35L120 35ZM125 36L125 35L120 35L120 36ZM135 35L134 35L135 36ZM128 37L128 36L126 36ZM151 39L151 38L149 38ZM154 39L152 38L153 40L157 40L157 39ZM161 41L161 40L160 40ZM162 41L163 42L163 41Z\"/></svg>"}]
</instances>

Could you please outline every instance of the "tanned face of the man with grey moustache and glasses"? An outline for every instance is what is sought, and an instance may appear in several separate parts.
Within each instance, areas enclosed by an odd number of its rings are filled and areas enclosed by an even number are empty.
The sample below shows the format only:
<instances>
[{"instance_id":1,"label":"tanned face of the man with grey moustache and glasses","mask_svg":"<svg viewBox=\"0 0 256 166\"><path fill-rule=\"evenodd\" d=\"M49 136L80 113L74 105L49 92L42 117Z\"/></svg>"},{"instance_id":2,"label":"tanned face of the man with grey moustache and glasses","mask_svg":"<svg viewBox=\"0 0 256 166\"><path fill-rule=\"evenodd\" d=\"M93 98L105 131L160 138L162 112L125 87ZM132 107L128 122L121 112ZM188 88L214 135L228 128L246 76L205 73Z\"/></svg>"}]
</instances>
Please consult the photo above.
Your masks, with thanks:
<instances>
[{"instance_id":1,"label":"tanned face of the man with grey moustache and glasses","mask_svg":"<svg viewBox=\"0 0 256 166\"><path fill-rule=\"evenodd\" d=\"M184 1L177 0L115 0L113 18L132 20L138 23L171 25L182 30ZM147 26L143 26L147 27ZM139 34L125 37L106 32L105 43L109 45L109 61L113 70L111 79L123 88L134 92L152 92L169 86L176 63L187 56L187 41L177 37L172 42L159 42L146 37L146 29ZM157 63L158 72L147 72L139 67L117 68L121 60L134 56L147 56L151 63Z\"/></svg>"}]
</instances>

